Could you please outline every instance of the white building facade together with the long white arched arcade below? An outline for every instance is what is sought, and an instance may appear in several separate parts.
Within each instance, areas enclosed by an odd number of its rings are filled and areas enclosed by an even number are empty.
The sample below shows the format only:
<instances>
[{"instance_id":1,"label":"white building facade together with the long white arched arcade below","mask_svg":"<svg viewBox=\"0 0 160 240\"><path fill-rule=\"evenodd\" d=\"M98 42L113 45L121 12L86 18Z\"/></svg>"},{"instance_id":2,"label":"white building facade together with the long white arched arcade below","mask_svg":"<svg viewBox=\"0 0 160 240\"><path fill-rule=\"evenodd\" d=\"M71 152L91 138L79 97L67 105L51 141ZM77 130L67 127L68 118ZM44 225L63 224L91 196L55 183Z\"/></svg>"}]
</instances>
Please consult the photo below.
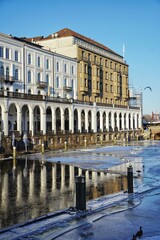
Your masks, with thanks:
<instances>
[{"instance_id":1,"label":"white building facade together with the long white arched arcade below","mask_svg":"<svg viewBox=\"0 0 160 240\"><path fill-rule=\"evenodd\" d=\"M77 61L0 34L0 131L8 136L141 128L141 110L78 102Z\"/></svg>"}]
</instances>

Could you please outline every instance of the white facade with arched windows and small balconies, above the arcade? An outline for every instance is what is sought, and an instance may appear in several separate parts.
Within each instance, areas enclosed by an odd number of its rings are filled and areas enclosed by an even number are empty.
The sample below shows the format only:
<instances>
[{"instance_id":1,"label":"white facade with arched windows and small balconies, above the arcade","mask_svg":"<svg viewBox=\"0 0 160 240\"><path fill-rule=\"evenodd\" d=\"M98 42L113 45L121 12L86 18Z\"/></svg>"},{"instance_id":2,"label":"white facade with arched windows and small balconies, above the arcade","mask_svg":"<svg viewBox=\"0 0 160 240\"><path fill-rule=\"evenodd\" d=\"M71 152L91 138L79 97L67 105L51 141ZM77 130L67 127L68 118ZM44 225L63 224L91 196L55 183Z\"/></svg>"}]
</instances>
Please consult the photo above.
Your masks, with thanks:
<instances>
[{"instance_id":1,"label":"white facade with arched windows and small balconies, above the arcade","mask_svg":"<svg viewBox=\"0 0 160 240\"><path fill-rule=\"evenodd\" d=\"M77 62L34 43L0 34L0 89L76 99Z\"/></svg>"}]
</instances>

